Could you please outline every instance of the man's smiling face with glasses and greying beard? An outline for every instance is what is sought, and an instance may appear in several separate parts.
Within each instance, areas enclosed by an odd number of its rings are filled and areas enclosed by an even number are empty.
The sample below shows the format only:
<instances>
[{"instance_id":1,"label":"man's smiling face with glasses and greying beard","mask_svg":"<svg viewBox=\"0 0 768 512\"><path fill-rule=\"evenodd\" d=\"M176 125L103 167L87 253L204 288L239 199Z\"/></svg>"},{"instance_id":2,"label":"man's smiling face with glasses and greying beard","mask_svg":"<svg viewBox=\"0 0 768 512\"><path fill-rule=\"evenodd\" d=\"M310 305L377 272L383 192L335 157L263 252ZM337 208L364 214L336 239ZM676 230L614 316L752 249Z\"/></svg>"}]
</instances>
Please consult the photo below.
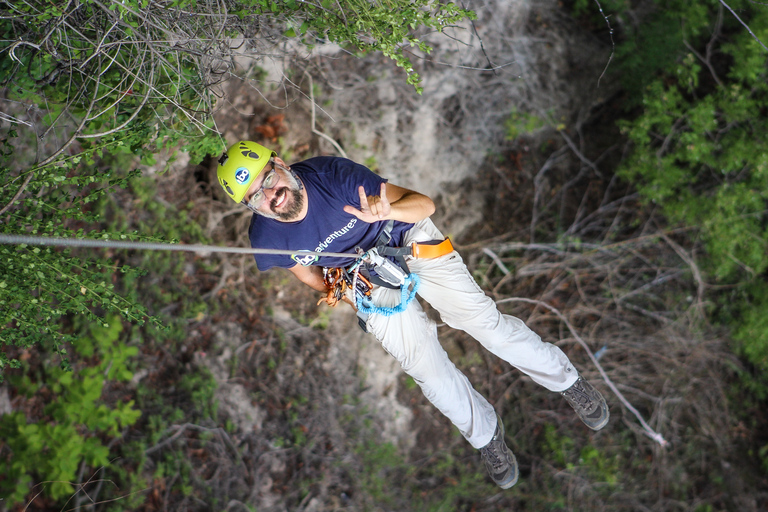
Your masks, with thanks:
<instances>
[{"instance_id":1,"label":"man's smiling face with glasses and greying beard","mask_svg":"<svg viewBox=\"0 0 768 512\"><path fill-rule=\"evenodd\" d=\"M257 214L283 222L297 220L304 208L301 184L281 161L262 171L243 199Z\"/></svg>"}]
</instances>

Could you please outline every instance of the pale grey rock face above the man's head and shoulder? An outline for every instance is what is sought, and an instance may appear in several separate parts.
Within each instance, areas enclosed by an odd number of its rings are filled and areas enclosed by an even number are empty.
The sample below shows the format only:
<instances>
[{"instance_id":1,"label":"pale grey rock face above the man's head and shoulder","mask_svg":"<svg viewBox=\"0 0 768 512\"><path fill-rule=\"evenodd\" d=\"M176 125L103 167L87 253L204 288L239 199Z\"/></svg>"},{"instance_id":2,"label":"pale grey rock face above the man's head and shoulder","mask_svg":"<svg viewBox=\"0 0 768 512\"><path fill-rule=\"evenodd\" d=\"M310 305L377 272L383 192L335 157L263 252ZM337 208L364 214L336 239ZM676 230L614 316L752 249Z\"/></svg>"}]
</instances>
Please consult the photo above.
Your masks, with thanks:
<instances>
[{"instance_id":1,"label":"pale grey rock face above the man's head and shoulder","mask_svg":"<svg viewBox=\"0 0 768 512\"><path fill-rule=\"evenodd\" d=\"M338 87L329 88L332 104L324 107L335 122L318 120L350 157L373 157L382 174L430 195L472 176L500 147L513 109L559 124L588 108L610 57L610 47L585 39L553 0L469 7L477 20L429 35L433 52L412 59L424 79L421 96L379 56L341 65L319 59Z\"/></svg>"}]
</instances>

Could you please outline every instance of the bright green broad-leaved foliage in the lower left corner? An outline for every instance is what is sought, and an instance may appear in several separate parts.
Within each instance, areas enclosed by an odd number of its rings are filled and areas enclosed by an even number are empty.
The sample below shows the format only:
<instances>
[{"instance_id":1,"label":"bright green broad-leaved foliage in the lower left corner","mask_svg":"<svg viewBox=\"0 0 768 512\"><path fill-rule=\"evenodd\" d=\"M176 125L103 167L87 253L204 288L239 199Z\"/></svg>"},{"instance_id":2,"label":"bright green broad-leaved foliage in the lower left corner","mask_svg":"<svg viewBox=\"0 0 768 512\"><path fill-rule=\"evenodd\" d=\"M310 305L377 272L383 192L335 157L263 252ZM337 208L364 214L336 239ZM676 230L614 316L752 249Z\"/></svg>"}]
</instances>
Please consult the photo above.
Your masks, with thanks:
<instances>
[{"instance_id":1,"label":"bright green broad-leaved foliage in the lower left corner","mask_svg":"<svg viewBox=\"0 0 768 512\"><path fill-rule=\"evenodd\" d=\"M79 355L92 361L77 374L49 368L33 381L28 375L14 379L18 392L47 404L36 421L22 411L0 418L0 432L10 455L5 455L0 488L13 505L24 499L35 478L43 478L47 495L54 500L71 495L81 464L91 468L107 466L107 442L120 437L141 415L133 401L105 403L105 386L133 377L130 358L138 353L119 341L120 318L108 317L104 325L93 324L76 343ZM48 485L49 484L49 485Z\"/></svg>"}]
</instances>

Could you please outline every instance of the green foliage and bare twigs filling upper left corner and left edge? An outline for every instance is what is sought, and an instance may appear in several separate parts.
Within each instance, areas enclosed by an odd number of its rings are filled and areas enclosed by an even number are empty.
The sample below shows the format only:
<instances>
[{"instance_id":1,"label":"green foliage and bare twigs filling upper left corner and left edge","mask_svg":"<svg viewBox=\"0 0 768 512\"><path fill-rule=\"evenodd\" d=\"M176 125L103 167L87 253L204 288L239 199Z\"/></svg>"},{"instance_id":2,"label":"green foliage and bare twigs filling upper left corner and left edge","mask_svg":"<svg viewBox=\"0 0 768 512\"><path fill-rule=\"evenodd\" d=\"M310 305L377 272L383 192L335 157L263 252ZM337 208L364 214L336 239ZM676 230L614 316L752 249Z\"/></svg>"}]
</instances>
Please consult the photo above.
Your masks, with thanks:
<instances>
[{"instance_id":1,"label":"green foliage and bare twigs filling upper left corner and left edge","mask_svg":"<svg viewBox=\"0 0 768 512\"><path fill-rule=\"evenodd\" d=\"M73 238L151 239L104 231L94 200L180 147L193 161L218 154L211 112L216 86L244 48L253 56L285 32L306 45L352 43L381 51L419 77L404 47L429 47L421 27L442 30L472 13L451 3L244 0L0 4L0 231ZM279 37L278 37L279 36ZM245 46L235 39L245 38ZM9 122L10 121L10 122ZM22 128L28 130L22 132ZM104 162L107 162L104 164ZM62 318L107 311L141 323L146 310L115 292L110 276L135 270L68 250L0 248L0 333L7 346L52 344L68 364ZM0 352L0 379L18 362Z\"/></svg>"}]
</instances>

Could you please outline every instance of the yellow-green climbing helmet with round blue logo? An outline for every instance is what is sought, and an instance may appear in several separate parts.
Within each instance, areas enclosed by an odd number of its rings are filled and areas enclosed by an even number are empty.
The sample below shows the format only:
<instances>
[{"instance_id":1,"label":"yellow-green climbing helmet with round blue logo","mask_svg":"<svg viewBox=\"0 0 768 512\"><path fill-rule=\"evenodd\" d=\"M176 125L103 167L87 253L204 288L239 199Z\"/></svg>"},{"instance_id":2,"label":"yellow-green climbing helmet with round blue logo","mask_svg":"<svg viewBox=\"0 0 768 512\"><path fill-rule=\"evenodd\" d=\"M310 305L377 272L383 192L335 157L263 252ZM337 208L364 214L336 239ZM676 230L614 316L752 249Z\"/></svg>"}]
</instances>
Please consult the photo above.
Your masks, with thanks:
<instances>
[{"instance_id":1,"label":"yellow-green climbing helmet with round blue logo","mask_svg":"<svg viewBox=\"0 0 768 512\"><path fill-rule=\"evenodd\" d=\"M241 202L253 180L264 170L269 159L276 155L261 144L248 140L233 144L219 158L216 170L219 184L234 202Z\"/></svg>"}]
</instances>

